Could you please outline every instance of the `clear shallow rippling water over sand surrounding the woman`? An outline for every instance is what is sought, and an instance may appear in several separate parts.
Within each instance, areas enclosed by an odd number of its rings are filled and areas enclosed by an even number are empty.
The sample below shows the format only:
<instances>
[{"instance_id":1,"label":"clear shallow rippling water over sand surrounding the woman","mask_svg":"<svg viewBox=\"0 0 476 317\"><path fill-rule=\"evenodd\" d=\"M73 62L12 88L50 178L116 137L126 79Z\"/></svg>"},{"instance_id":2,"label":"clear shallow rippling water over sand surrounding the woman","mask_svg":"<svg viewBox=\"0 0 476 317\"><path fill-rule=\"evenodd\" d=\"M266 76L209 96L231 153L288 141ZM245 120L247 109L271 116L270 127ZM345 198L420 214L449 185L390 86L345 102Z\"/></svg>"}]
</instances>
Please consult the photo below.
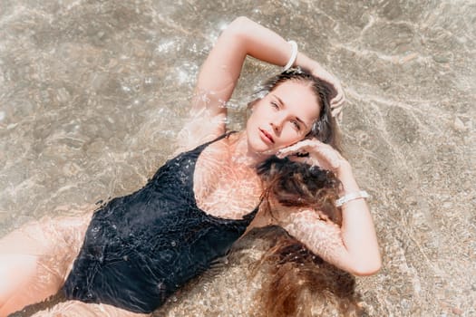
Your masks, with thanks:
<instances>
[{"instance_id":1,"label":"clear shallow rippling water over sand surrounding the woman","mask_svg":"<svg viewBox=\"0 0 476 317\"><path fill-rule=\"evenodd\" d=\"M357 279L369 316L476 315L476 2L0 2L0 235L141 187L174 150L199 72L238 15L294 39L345 85L347 157L384 255ZM249 60L230 101L243 127ZM158 316L259 316L263 241Z\"/></svg>"}]
</instances>

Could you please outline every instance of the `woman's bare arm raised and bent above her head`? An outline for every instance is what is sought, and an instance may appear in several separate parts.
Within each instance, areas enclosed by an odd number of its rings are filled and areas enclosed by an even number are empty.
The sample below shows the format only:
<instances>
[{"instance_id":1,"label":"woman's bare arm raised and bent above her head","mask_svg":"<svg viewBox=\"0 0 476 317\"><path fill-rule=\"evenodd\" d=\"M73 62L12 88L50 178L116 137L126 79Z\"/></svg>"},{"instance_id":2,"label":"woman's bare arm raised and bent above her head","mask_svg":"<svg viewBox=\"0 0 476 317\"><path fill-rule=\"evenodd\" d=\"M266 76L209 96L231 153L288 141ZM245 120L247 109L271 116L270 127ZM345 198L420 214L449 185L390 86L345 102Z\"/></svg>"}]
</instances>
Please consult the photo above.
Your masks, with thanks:
<instances>
[{"instance_id":1,"label":"woman's bare arm raised and bent above her head","mask_svg":"<svg viewBox=\"0 0 476 317\"><path fill-rule=\"evenodd\" d=\"M235 90L247 55L283 66L291 53L292 47L283 37L246 17L238 17L229 24L201 66L190 120L179 136L181 150L192 149L225 132L226 102ZM311 70L342 91L339 82L305 54L298 53L294 65Z\"/></svg>"}]
</instances>

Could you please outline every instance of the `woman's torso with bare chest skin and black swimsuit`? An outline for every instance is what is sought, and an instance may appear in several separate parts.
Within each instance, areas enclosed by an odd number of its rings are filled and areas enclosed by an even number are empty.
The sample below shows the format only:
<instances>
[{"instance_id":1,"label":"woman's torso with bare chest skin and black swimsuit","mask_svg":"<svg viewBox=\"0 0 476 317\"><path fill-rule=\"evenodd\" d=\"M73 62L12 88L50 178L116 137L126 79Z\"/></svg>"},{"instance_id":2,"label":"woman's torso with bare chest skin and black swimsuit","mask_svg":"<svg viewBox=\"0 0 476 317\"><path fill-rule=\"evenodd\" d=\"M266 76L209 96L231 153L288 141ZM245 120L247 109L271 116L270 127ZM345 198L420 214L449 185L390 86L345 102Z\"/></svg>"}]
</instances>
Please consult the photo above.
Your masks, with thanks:
<instances>
[{"instance_id":1,"label":"woman's torso with bare chest skin and black swimsuit","mask_svg":"<svg viewBox=\"0 0 476 317\"><path fill-rule=\"evenodd\" d=\"M228 159L232 140L168 160L144 187L99 208L66 298L152 312L226 255L257 216L261 194L255 168Z\"/></svg>"}]
</instances>

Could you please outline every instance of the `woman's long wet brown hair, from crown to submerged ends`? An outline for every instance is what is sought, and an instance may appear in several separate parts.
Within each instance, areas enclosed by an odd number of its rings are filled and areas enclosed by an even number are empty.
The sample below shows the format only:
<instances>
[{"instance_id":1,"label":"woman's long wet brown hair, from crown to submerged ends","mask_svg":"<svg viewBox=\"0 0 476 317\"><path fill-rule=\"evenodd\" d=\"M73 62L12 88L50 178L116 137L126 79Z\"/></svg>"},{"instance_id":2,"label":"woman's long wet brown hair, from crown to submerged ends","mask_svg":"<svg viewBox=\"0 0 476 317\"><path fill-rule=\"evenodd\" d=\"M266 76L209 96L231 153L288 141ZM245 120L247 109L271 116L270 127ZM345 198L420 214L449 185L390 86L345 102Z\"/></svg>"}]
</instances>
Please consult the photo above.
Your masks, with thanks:
<instances>
[{"instance_id":1,"label":"woman's long wet brown hair, from crown to submerged ends","mask_svg":"<svg viewBox=\"0 0 476 317\"><path fill-rule=\"evenodd\" d=\"M306 138L319 139L340 151L338 127L331 115L329 86L308 72L291 70L268 80L262 91L273 91L287 81L309 84L316 94L320 115ZM310 207L319 212L323 221L341 226L342 213L335 207L341 185L333 172L273 156L257 166L257 174L263 182L265 211L271 216L268 198L272 196L283 206ZM313 316L316 304L324 310L319 315L332 313L329 309L333 307L339 315L352 316L360 312L354 292L355 278L325 263L290 235L275 236L272 247L258 261L257 267L267 276L257 293L265 316Z\"/></svg>"}]
</instances>

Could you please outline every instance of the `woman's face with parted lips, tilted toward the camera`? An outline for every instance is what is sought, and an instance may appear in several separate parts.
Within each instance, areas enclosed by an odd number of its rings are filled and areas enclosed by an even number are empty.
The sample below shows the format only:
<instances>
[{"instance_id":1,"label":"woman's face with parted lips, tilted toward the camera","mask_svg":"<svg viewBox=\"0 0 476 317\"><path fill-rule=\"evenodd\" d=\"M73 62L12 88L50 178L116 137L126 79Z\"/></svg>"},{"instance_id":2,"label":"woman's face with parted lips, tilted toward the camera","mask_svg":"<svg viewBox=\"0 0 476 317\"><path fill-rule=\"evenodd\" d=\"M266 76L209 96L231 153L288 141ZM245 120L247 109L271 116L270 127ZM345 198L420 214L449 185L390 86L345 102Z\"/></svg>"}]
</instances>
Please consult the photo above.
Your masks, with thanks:
<instances>
[{"instance_id":1,"label":"woman's face with parted lips, tilted toward the camera","mask_svg":"<svg viewBox=\"0 0 476 317\"><path fill-rule=\"evenodd\" d=\"M247 122L248 147L275 154L304 139L318 117L319 105L309 84L283 82L253 106Z\"/></svg>"}]
</instances>

